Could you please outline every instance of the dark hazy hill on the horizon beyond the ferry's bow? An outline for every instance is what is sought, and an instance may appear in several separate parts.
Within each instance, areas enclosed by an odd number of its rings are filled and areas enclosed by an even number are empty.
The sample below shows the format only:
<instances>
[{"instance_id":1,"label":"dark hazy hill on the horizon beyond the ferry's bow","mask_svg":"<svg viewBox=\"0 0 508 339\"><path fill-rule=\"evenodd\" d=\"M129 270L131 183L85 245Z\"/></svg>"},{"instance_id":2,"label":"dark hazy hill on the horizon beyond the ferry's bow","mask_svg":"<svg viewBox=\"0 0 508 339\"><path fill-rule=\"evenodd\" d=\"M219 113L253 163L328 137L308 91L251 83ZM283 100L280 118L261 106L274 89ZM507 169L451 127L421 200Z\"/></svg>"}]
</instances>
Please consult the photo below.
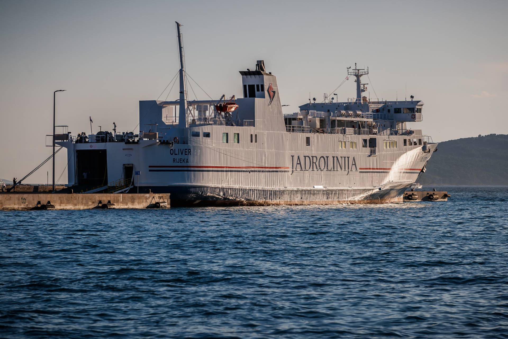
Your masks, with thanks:
<instances>
[{"instance_id":1,"label":"dark hazy hill on the horizon beyond the ferry's bow","mask_svg":"<svg viewBox=\"0 0 508 339\"><path fill-rule=\"evenodd\" d=\"M508 135L440 142L420 183L508 186Z\"/></svg>"}]
</instances>

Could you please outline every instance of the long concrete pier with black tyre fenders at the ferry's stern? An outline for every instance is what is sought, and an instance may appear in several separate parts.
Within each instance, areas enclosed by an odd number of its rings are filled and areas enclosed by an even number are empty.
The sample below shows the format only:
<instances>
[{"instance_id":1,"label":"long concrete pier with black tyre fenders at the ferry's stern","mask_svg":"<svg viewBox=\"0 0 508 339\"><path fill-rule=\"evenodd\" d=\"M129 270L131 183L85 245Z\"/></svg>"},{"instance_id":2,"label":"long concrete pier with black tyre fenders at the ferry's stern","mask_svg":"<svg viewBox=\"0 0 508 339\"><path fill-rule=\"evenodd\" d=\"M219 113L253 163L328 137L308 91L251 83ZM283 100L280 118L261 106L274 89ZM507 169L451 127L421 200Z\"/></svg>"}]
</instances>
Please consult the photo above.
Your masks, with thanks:
<instances>
[{"instance_id":1,"label":"long concrete pier with black tyre fenders at the ferry's stern","mask_svg":"<svg viewBox=\"0 0 508 339\"><path fill-rule=\"evenodd\" d=\"M169 194L0 194L0 209L92 209L169 207ZM48 204L50 202L50 205ZM108 203L109 202L109 203ZM165 205L164 202L167 204ZM53 207L54 206L54 207Z\"/></svg>"}]
</instances>

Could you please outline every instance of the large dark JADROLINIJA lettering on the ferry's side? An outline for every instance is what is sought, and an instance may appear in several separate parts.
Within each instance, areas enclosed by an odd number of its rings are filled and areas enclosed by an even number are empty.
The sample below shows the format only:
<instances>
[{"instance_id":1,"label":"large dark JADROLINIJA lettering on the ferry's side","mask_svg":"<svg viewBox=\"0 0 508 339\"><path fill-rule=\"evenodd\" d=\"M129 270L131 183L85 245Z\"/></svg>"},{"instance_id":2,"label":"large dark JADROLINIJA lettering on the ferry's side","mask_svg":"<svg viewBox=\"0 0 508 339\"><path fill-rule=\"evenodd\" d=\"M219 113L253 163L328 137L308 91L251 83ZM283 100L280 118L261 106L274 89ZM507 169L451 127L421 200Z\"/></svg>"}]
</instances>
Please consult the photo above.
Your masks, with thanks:
<instances>
[{"instance_id":1,"label":"large dark JADROLINIJA lettering on the ferry's side","mask_svg":"<svg viewBox=\"0 0 508 339\"><path fill-rule=\"evenodd\" d=\"M291 156L291 174L294 171L358 171L355 157Z\"/></svg>"}]
</instances>

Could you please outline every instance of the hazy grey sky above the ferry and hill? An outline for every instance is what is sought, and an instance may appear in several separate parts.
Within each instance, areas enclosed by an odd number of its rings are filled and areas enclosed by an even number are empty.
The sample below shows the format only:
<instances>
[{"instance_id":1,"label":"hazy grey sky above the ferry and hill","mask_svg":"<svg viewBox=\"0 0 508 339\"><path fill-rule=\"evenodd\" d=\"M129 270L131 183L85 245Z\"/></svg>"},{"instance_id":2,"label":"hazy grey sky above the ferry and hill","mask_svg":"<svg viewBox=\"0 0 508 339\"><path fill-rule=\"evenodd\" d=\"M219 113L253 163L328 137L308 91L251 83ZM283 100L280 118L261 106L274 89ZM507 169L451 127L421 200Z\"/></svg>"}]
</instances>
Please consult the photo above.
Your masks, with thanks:
<instances>
[{"instance_id":1,"label":"hazy grey sky above the ferry and hill","mask_svg":"<svg viewBox=\"0 0 508 339\"><path fill-rule=\"evenodd\" d=\"M67 89L57 93L56 124L73 135L90 132L90 115L94 131L113 121L133 130L138 101L156 99L178 71L174 21L188 74L213 98L242 97L238 71L264 59L291 113L356 62L370 69L370 97L373 87L403 99L407 84L407 97L424 101L413 127L434 141L506 134L507 16L508 1L0 0L0 178L21 178L51 154L55 89ZM336 93L354 97L353 80ZM173 88L168 99L177 98ZM66 164L62 150L57 178ZM51 181L48 162L26 182L46 182L46 171Z\"/></svg>"}]
</instances>

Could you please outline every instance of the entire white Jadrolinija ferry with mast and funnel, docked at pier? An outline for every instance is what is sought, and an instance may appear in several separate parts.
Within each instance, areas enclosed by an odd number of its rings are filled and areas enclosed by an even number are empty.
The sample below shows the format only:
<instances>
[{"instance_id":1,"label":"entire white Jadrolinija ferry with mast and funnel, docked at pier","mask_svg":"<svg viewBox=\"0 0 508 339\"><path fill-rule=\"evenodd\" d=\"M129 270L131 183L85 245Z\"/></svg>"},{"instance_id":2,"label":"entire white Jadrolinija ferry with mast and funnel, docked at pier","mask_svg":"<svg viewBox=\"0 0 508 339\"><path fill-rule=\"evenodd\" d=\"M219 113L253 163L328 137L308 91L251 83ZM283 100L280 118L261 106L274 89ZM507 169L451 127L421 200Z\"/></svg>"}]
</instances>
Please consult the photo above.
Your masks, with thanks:
<instances>
[{"instance_id":1,"label":"entire white Jadrolinija ferry with mast and funnel, docked at pier","mask_svg":"<svg viewBox=\"0 0 508 339\"><path fill-rule=\"evenodd\" d=\"M361 83L368 70L356 66L347 70L356 98L309 100L293 114L282 114L263 60L240 71L243 98L188 101L178 23L177 31L180 99L140 101L139 132L58 142L68 149L70 184L171 193L172 205L395 202L437 149L406 126L422 121L423 102L370 101Z\"/></svg>"}]
</instances>

